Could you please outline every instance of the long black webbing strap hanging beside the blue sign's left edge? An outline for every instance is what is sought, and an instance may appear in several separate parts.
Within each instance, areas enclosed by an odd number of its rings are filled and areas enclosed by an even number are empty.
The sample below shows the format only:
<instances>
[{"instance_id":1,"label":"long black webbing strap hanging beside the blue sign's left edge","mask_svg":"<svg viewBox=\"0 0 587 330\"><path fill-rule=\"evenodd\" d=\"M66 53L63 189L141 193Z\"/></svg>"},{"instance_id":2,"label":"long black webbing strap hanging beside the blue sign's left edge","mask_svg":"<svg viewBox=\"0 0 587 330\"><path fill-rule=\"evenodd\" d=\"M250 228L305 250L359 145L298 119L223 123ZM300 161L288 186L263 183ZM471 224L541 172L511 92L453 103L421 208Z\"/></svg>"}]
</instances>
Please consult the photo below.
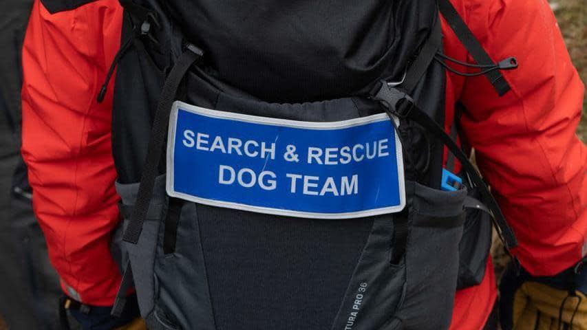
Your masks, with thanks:
<instances>
[{"instance_id":1,"label":"long black webbing strap hanging beside the blue sign's left edge","mask_svg":"<svg viewBox=\"0 0 587 330\"><path fill-rule=\"evenodd\" d=\"M153 197L153 186L155 184L155 177L158 174L165 135L167 135L169 113L171 112L173 101L175 101L175 94L177 94L178 87L188 69L203 54L202 50L198 47L187 45L186 51L178 58L175 65L173 65L163 85L159 96L159 103L157 104L155 119L153 120L151 139L147 146L147 159L145 159L145 164L142 166L142 175L140 177L135 208L123 237L129 243L136 244L138 242L140 233L142 232L142 224L145 222L147 210L149 210L149 203L151 197Z\"/></svg>"}]
</instances>

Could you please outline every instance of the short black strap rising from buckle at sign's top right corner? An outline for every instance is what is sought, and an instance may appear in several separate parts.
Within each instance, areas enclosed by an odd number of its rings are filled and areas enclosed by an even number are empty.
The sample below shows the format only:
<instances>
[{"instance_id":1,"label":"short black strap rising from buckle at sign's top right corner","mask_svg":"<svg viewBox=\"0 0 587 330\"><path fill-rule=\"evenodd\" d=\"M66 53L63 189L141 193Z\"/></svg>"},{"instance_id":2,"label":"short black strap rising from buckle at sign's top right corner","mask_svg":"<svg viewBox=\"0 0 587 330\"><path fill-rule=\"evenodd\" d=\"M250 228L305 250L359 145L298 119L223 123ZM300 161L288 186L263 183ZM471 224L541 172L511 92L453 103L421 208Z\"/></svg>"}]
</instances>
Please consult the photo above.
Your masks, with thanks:
<instances>
[{"instance_id":1,"label":"short black strap rising from buckle at sign's top right corner","mask_svg":"<svg viewBox=\"0 0 587 330\"><path fill-rule=\"evenodd\" d=\"M434 26L430 32L426 43L420 49L420 53L416 60L409 66L406 72L405 80L402 87L412 93L418 84L418 81L427 72L430 63L434 61L434 56L442 47L442 28L440 27L440 19L436 19Z\"/></svg>"}]
</instances>

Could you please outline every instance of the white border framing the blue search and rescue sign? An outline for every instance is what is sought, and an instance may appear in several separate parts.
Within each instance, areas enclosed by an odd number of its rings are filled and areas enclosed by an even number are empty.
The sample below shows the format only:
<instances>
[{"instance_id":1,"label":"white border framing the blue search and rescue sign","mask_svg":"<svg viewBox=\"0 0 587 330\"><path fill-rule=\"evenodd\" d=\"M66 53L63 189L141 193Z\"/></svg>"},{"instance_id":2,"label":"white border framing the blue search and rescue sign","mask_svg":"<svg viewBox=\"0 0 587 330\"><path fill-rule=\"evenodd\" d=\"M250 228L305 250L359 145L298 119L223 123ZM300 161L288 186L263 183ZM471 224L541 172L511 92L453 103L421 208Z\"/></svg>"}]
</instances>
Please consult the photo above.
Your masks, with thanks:
<instances>
[{"instance_id":1,"label":"white border framing the blue search and rescue sign","mask_svg":"<svg viewBox=\"0 0 587 330\"><path fill-rule=\"evenodd\" d=\"M380 214L400 212L405 208L405 180L404 180L404 168L403 168L403 153L401 141L399 140L398 133L395 131L396 138L396 161L398 164L398 183L400 192L400 204L398 206L389 206L387 208L374 208L371 210L362 210L356 212L345 212L345 213L319 213L319 212L301 212L295 210L284 210L281 208L265 208L262 206L252 206L242 203L234 203L230 201L218 201L215 199L205 199L200 197L194 197L191 195L184 194L182 192L176 192L173 190L174 177L173 177L173 159L175 154L175 131L177 129L178 112L182 109L198 115L205 115L210 118L219 118L225 120L237 120L241 122L251 122L254 124L266 124L271 126L285 126L299 129L315 129L315 130L333 130L333 129L345 129L352 126L361 126L364 124L370 124L372 122L382 122L389 120L387 113L378 113L376 115L370 115L369 117L354 118L351 120L343 120L339 122L301 122L297 120L285 120L277 118L259 117L256 115L244 115L242 113L231 113L226 111L217 111L197 107L192 104L187 104L181 101L173 102L171 108L171 114L169 115L169 133L167 137L167 195L184 199L186 201L193 201L195 203L201 203L209 206L217 206L220 208L232 208L235 210L244 210L250 212L258 212L264 214L275 214L283 215L286 217L298 217L298 218L310 218L310 219L354 219L362 217L372 217ZM396 124L399 124L398 118L394 117Z\"/></svg>"}]
</instances>

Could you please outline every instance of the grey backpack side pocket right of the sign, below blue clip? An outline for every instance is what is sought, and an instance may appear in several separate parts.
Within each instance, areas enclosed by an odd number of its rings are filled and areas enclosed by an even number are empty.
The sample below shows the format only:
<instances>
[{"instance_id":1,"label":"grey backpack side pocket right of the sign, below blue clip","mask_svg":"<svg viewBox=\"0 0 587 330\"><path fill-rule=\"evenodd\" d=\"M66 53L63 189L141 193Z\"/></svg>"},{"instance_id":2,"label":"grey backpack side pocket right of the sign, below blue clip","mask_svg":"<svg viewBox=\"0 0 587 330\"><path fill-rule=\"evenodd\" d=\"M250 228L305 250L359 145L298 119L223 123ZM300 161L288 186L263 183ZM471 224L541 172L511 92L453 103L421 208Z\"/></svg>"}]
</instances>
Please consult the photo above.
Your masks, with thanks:
<instances>
[{"instance_id":1,"label":"grey backpack side pocket right of the sign, below blue clip","mask_svg":"<svg viewBox=\"0 0 587 330\"><path fill-rule=\"evenodd\" d=\"M456 292L466 190L444 192L413 182L408 186L415 193L409 203L411 228L405 256L407 289L396 317L401 319L402 329L448 329ZM458 225L418 225L429 221L431 214Z\"/></svg>"}]
</instances>

